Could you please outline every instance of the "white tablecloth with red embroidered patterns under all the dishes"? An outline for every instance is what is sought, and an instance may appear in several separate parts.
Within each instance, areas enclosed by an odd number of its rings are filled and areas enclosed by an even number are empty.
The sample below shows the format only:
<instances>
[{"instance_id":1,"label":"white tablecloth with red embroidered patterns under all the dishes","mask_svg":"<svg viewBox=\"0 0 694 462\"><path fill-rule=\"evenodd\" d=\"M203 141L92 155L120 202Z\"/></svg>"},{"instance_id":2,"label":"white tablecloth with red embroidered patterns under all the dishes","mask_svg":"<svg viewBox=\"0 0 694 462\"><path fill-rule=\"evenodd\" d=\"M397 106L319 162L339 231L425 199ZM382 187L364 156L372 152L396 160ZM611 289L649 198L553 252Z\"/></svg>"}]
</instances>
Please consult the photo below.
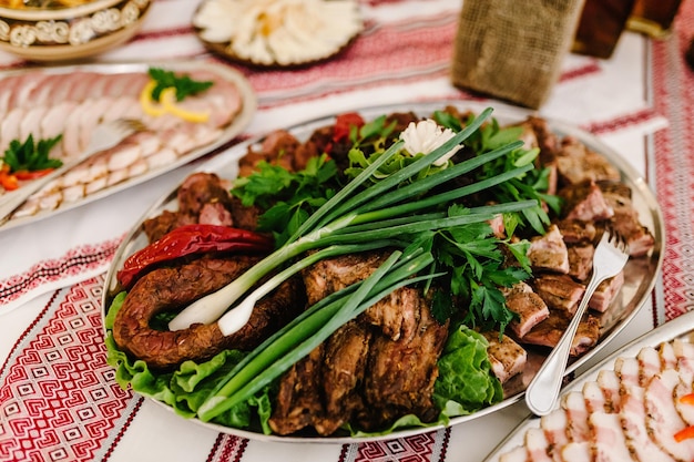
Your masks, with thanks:
<instances>
[{"instance_id":1,"label":"white tablecloth with red embroidered patterns under all the dishes","mask_svg":"<svg viewBox=\"0 0 694 462\"><path fill-rule=\"evenodd\" d=\"M140 34L95 60L211 59L190 25L196 3L156 0ZM479 101L479 96L453 88L449 78L451 43L461 2L431 0L426 4L422 11L422 2L417 1L363 1L367 19L363 37L346 53L316 66L292 72L236 66L251 81L259 103L244 136L377 104ZM692 192L687 191L692 181L691 176L686 177L686 171L676 171L675 176L659 171L664 156L672 157L672 165L677 165L677 160L686 164L681 160L694 154L691 147L694 132L690 129L694 104L687 105L694 102L691 93L694 78L682 60L687 34L694 31L691 0L685 1L683 10L676 32L665 41L652 42L643 35L626 33L610 60L568 55L560 81L540 110L543 116L571 122L599 135L645 176L660 199L666 198L663 207L672 218L666 223L667 258L672 257L670 266L666 264L666 281L663 284L659 278L653 297L605 353L675 318L691 305L694 283L684 277L688 254L682 243L692 232L693 220L688 216ZM0 54L0 71L22 65L17 58ZM92 351L101 342L88 340L101 335L100 327L90 324L100 319L100 284L115 247L144 211L196 166L186 165L83 207L0 232L2 456L170 462L480 461L528 414L519 403L419 438L369 444L297 445L223 435L133 396L118 396L102 407L103 390L99 391L99 387L89 389L91 394L85 398L82 411L71 407L70 397L80 389L81 376L86 377L90 370L109 374L103 351ZM670 236L676 240L671 243ZM89 367L67 372L64 380L72 380L73 384L65 386L59 368L51 366L51 355L62 360L78 355ZM94 355L95 362L85 360L84 355ZM99 359L98 355L102 357ZM28 379L30 373L39 376ZM63 393L52 397L57 400L52 404L48 399L52 391L39 392L31 386L45 383L41 381L42 373L50 374L53 384L59 382L57 387ZM95 383L104 381L108 379ZM38 402L48 405L52 414L43 420L21 419L22 407L29 404L14 403L21 400L17 393L23 392L28 397L44 397L43 402ZM119 394L113 390L109 393ZM40 431L41 428L45 431ZM27 446L22 450L18 444Z\"/></svg>"}]
</instances>

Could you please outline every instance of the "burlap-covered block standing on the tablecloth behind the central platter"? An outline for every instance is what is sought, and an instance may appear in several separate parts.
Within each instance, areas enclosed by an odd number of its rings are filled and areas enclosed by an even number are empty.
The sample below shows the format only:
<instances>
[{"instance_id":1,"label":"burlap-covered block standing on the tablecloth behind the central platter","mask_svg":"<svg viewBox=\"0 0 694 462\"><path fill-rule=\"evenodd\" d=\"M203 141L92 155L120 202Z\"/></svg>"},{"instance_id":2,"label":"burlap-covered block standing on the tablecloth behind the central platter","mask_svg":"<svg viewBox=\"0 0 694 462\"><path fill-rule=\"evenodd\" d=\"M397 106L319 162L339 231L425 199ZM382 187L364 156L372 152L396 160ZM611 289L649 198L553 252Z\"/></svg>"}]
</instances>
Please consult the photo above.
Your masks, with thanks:
<instances>
[{"instance_id":1,"label":"burlap-covered block standing on the tablecloth behind the central platter","mask_svg":"<svg viewBox=\"0 0 694 462\"><path fill-rule=\"evenodd\" d=\"M452 83L538 109L559 78L583 0L465 0Z\"/></svg>"}]
</instances>

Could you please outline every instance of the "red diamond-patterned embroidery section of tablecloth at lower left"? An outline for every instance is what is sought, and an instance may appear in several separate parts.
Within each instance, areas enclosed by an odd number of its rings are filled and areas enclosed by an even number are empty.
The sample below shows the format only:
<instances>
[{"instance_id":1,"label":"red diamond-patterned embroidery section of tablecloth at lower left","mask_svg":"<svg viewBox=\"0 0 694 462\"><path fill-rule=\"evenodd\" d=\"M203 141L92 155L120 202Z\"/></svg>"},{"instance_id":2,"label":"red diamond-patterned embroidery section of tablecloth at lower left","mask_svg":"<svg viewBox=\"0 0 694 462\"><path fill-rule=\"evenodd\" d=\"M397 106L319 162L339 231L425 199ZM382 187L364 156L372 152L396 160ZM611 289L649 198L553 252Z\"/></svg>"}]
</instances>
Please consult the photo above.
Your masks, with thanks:
<instances>
[{"instance_id":1,"label":"red diamond-patterned embroidery section of tablecloth at lower left","mask_svg":"<svg viewBox=\"0 0 694 462\"><path fill-rule=\"evenodd\" d=\"M106 365L103 278L73 286L0 384L0 460L92 460L132 397Z\"/></svg>"}]
</instances>

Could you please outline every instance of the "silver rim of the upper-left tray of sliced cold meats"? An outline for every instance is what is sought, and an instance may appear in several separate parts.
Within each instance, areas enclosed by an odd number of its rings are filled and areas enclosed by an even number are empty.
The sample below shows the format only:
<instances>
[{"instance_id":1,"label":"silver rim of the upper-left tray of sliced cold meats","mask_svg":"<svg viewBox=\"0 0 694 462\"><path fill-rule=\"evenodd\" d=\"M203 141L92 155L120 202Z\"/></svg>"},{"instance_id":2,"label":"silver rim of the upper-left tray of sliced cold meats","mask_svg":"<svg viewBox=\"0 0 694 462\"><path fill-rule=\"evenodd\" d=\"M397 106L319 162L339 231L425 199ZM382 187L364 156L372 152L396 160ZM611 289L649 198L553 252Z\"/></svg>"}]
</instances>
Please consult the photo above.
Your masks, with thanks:
<instances>
[{"instance_id":1,"label":"silver rim of the upper-left tray of sliced cold meats","mask_svg":"<svg viewBox=\"0 0 694 462\"><path fill-rule=\"evenodd\" d=\"M92 71L99 72L103 74L118 74L118 73L126 73L126 72L147 72L149 68L162 68L171 71L194 71L200 69L206 69L214 71L223 79L232 82L238 89L238 93L242 97L242 109L233 122L227 125L221 133L220 137L217 137L212 143L207 145L201 146L188 152L185 155L177 157L174 162L166 164L164 166L153 168L147 171L146 173L137 176L133 176L126 181L114 184L110 187L104 187L98 192L89 194L78 201L63 203L57 208L52 211L40 211L34 215L17 217L7 220L4 224L0 225L0 232L14 228L18 226L27 225L30 223L34 223L41 220L43 218L53 216L55 214L70 211L75 207L80 207L82 205L89 204L93 201L106 197L111 194L115 194L120 191L126 189L129 187L135 186L137 184L144 183L149 179L152 179L159 175L162 175L166 172L170 172L174 168L180 167L181 165L187 164L198 157L202 157L206 154L214 152L217 148L223 147L227 143L232 142L237 135L239 135L251 123L256 109L257 109L257 99L251 83L246 80L243 74L238 71L222 65L211 61L156 61L156 62L129 62L129 63L104 63L104 64L84 64L84 65L62 65L62 66L51 66L51 68L32 68L32 69L23 69L19 71L9 71L0 74L1 78L6 78L14 74L22 73L31 73L31 72L40 72L44 74L65 74L71 73L78 70L81 71ZM1 197L1 196L0 196Z\"/></svg>"}]
</instances>

